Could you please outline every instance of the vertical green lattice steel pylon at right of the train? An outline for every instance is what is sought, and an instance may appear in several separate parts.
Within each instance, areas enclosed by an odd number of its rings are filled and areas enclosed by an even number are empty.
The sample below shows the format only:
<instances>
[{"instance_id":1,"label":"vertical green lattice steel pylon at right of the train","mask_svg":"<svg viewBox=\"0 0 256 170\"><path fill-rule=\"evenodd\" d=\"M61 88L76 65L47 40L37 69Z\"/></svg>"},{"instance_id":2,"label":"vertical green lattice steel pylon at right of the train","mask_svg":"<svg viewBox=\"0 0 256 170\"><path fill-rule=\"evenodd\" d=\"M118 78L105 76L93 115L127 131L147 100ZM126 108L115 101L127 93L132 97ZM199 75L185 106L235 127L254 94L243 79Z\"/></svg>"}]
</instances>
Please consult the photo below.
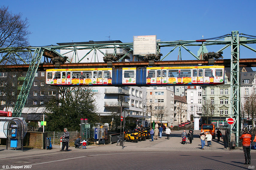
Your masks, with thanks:
<instances>
[{"instance_id":1,"label":"vertical green lattice steel pylon at right of the train","mask_svg":"<svg viewBox=\"0 0 256 170\"><path fill-rule=\"evenodd\" d=\"M235 121L231 125L231 129L235 127L232 133L236 137L239 136L239 105L240 105L240 82L239 82L239 33L238 31L232 31L231 37L231 94L230 94L230 106L231 106L231 118ZM238 139L236 141L238 143Z\"/></svg>"}]
</instances>

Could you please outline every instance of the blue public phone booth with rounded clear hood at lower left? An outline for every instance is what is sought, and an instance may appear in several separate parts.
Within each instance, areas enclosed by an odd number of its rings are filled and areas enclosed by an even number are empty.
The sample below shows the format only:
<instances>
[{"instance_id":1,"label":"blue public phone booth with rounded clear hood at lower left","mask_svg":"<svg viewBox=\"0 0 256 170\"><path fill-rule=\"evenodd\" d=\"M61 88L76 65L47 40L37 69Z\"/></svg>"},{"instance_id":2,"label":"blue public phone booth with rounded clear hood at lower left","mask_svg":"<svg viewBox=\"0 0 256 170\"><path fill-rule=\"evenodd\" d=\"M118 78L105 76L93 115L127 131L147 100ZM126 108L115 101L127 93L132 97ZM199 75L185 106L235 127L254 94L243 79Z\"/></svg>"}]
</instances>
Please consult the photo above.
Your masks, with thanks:
<instances>
[{"instance_id":1,"label":"blue public phone booth with rounded clear hood at lower left","mask_svg":"<svg viewBox=\"0 0 256 170\"><path fill-rule=\"evenodd\" d=\"M12 118L4 123L4 135L6 136L6 149L8 145L11 148L19 148L23 151L23 140L27 133L27 123L19 118Z\"/></svg>"}]
</instances>

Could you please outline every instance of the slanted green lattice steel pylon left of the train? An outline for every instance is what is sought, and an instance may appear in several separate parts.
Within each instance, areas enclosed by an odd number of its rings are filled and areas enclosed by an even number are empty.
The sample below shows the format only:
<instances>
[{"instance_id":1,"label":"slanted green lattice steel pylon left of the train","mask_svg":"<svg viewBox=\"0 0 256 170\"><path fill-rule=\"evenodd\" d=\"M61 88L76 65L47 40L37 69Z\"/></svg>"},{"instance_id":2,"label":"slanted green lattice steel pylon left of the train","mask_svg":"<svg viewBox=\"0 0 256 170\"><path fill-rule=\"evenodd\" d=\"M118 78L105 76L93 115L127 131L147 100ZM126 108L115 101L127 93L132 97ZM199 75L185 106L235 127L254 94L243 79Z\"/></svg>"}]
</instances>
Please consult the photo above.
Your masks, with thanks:
<instances>
[{"instance_id":1,"label":"slanted green lattice steel pylon left of the train","mask_svg":"<svg viewBox=\"0 0 256 170\"><path fill-rule=\"evenodd\" d=\"M26 77L24 78L23 85L21 87L17 101L15 103L12 117L20 117L20 115L21 115L22 109L23 109L25 102L28 98L28 93L29 93L32 83L34 81L35 74L39 67L41 58L43 56L43 51L44 51L44 49L42 47L36 48L34 51L34 55L30 62L28 72L26 74Z\"/></svg>"}]
</instances>

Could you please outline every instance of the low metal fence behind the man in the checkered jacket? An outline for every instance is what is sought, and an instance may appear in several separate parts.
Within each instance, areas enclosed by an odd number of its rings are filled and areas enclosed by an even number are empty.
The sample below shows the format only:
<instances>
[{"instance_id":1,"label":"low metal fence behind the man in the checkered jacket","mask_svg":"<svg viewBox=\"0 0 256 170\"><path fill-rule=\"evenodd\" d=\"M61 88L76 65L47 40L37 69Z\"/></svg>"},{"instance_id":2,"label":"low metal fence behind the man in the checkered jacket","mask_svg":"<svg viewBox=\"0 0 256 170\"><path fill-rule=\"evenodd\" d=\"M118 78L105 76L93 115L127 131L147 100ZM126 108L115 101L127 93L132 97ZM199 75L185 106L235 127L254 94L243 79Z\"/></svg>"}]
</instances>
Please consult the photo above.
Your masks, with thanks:
<instances>
[{"instance_id":1,"label":"low metal fence behind the man in the checkered jacket","mask_svg":"<svg viewBox=\"0 0 256 170\"><path fill-rule=\"evenodd\" d=\"M60 144L60 137L63 135L63 132L48 132L48 137L51 137L51 143ZM77 135L80 136L80 132L71 131L69 132L69 142L74 142L77 138Z\"/></svg>"}]
</instances>

